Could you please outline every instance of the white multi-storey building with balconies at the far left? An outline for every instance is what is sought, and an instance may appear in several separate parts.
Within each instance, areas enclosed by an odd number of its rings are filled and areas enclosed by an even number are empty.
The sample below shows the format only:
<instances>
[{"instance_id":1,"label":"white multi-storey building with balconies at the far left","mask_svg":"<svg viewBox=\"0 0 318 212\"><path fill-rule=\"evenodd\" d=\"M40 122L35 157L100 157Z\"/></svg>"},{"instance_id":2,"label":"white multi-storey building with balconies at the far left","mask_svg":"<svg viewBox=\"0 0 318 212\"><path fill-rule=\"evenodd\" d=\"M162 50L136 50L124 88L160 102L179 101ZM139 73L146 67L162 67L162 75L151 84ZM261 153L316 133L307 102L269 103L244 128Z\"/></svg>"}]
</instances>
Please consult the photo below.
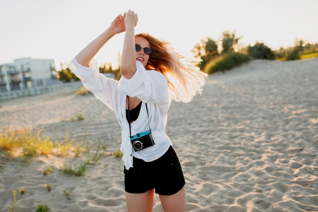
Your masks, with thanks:
<instances>
[{"instance_id":1,"label":"white multi-storey building with balconies at the far left","mask_svg":"<svg viewBox=\"0 0 318 212\"><path fill-rule=\"evenodd\" d=\"M59 83L53 59L15 59L0 65L0 93Z\"/></svg>"}]
</instances>

